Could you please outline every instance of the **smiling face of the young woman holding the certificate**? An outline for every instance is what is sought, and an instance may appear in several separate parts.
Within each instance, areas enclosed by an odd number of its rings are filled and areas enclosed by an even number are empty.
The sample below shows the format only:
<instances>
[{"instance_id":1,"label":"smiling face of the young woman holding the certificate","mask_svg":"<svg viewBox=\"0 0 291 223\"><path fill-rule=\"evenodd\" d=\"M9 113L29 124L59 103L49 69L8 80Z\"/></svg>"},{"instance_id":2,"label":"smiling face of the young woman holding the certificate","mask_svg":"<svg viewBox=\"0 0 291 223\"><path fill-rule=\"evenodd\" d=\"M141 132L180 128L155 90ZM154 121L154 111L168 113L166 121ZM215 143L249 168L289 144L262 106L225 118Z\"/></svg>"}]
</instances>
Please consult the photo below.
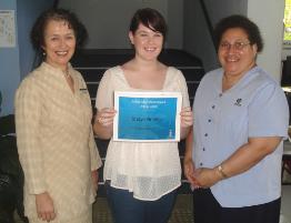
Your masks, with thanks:
<instances>
[{"instance_id":1,"label":"smiling face of the young woman holding the certificate","mask_svg":"<svg viewBox=\"0 0 291 223\"><path fill-rule=\"evenodd\" d=\"M142 23L139 24L137 31L129 32L131 43L136 49L136 58L143 60L157 60L162 50L163 36L155 32Z\"/></svg>"}]
</instances>

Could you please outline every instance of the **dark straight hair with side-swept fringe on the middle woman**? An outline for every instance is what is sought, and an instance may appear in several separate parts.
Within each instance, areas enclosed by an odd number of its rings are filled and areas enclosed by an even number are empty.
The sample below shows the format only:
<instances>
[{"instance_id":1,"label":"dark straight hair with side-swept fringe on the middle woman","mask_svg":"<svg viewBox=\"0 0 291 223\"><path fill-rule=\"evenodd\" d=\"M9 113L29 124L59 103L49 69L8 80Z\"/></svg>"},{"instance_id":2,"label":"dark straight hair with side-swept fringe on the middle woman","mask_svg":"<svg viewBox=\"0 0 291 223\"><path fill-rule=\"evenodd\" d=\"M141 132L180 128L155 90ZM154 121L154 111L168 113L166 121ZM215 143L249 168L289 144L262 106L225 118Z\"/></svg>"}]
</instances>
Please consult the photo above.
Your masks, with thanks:
<instances>
[{"instance_id":1,"label":"dark straight hair with side-swept fringe on the middle woman","mask_svg":"<svg viewBox=\"0 0 291 223\"><path fill-rule=\"evenodd\" d=\"M165 38L167 23L159 11L151 8L139 9L131 19L129 30L134 33L140 23L154 32L162 33L163 38Z\"/></svg>"}]
</instances>

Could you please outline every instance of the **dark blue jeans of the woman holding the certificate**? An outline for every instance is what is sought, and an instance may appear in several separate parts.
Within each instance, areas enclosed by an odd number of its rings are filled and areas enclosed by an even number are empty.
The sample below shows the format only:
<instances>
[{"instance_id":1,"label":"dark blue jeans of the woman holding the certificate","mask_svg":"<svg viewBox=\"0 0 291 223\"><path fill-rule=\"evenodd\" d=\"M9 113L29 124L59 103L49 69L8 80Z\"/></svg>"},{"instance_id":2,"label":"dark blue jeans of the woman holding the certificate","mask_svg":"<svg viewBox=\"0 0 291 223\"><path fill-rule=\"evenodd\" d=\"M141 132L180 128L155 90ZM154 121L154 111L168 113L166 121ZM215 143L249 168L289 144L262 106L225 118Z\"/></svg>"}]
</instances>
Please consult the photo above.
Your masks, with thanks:
<instances>
[{"instance_id":1,"label":"dark blue jeans of the woman holding the certificate","mask_svg":"<svg viewBox=\"0 0 291 223\"><path fill-rule=\"evenodd\" d=\"M114 223L167 223L175 196L177 190L157 201L141 201L127 190L107 184L107 197Z\"/></svg>"}]
</instances>

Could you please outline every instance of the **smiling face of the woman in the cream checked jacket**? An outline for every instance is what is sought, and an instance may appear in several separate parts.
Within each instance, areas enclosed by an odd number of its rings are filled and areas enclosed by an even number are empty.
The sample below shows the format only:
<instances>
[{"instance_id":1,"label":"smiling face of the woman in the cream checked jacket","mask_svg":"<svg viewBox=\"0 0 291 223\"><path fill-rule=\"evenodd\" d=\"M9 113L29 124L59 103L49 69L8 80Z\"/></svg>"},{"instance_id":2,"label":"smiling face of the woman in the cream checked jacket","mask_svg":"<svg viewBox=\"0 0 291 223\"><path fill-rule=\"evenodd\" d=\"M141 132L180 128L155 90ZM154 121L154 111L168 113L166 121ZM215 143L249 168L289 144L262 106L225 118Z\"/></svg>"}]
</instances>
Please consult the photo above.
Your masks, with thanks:
<instances>
[{"instance_id":1,"label":"smiling face of the woman in the cream checked jacket","mask_svg":"<svg viewBox=\"0 0 291 223\"><path fill-rule=\"evenodd\" d=\"M76 37L68 22L50 20L44 29L46 62L63 71L76 49Z\"/></svg>"}]
</instances>

